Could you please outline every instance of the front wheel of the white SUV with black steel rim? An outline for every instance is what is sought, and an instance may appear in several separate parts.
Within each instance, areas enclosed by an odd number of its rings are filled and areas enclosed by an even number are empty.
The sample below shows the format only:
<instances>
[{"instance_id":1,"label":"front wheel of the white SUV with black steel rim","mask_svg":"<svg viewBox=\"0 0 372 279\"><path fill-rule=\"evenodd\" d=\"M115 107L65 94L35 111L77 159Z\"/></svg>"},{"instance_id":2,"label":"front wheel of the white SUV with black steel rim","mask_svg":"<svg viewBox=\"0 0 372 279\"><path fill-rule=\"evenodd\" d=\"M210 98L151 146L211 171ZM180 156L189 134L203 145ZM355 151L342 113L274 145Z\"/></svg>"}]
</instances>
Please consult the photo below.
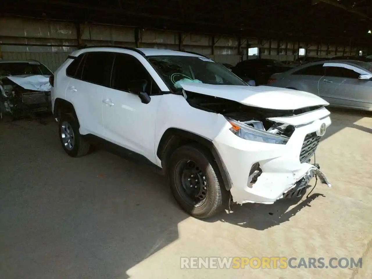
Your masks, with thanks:
<instances>
[{"instance_id":1,"label":"front wheel of the white SUV with black steel rim","mask_svg":"<svg viewBox=\"0 0 372 279\"><path fill-rule=\"evenodd\" d=\"M212 155L198 145L183 145L170 157L173 196L193 217L211 217L227 205L230 195L219 177Z\"/></svg>"}]
</instances>

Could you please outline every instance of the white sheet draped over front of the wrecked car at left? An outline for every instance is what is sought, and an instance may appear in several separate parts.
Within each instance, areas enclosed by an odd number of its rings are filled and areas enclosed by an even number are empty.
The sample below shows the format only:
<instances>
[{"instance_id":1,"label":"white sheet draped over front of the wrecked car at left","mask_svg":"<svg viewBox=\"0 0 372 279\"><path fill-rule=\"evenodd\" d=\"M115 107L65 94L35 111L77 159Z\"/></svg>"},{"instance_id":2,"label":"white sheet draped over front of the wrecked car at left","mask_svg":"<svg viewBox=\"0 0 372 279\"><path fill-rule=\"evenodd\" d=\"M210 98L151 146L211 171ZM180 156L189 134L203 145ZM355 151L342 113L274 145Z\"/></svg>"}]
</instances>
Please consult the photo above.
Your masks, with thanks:
<instances>
[{"instance_id":1,"label":"white sheet draped over front of the wrecked car at left","mask_svg":"<svg viewBox=\"0 0 372 279\"><path fill-rule=\"evenodd\" d=\"M52 89L48 75L8 76L8 78L24 89L35 91L50 91Z\"/></svg>"}]
</instances>

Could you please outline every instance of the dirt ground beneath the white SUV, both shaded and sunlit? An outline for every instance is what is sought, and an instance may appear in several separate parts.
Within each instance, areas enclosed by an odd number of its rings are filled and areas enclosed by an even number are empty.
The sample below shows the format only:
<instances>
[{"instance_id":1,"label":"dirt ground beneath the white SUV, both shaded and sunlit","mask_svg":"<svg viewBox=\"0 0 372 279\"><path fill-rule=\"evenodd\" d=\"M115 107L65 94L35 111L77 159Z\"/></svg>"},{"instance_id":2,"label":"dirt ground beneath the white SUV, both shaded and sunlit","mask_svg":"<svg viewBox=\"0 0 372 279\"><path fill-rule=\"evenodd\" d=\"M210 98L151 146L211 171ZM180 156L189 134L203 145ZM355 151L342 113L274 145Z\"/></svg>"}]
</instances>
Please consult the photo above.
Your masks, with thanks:
<instances>
[{"instance_id":1,"label":"dirt ground beneath the white SUV, both shaded and sunlit","mask_svg":"<svg viewBox=\"0 0 372 279\"><path fill-rule=\"evenodd\" d=\"M68 157L52 119L0 124L0 278L372 278L372 116L331 117L316 154L331 188L318 183L298 203L234 206L205 221L181 211L147 167L100 150ZM180 269L180 257L206 256L363 264Z\"/></svg>"}]
</instances>

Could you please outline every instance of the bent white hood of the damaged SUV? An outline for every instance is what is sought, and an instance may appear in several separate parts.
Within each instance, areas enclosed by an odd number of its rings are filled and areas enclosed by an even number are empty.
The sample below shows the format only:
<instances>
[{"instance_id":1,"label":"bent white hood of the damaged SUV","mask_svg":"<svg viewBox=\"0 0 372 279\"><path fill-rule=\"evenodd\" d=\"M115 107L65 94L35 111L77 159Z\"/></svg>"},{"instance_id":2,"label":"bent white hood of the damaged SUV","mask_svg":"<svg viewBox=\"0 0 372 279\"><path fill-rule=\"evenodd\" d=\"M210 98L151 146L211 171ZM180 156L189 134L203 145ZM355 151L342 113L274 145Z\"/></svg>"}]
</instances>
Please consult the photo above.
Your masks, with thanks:
<instances>
[{"instance_id":1,"label":"bent white hood of the damaged SUV","mask_svg":"<svg viewBox=\"0 0 372 279\"><path fill-rule=\"evenodd\" d=\"M309 106L329 105L314 94L279 87L205 83L180 83L180 85L187 91L224 98L257 108L293 110Z\"/></svg>"}]
</instances>

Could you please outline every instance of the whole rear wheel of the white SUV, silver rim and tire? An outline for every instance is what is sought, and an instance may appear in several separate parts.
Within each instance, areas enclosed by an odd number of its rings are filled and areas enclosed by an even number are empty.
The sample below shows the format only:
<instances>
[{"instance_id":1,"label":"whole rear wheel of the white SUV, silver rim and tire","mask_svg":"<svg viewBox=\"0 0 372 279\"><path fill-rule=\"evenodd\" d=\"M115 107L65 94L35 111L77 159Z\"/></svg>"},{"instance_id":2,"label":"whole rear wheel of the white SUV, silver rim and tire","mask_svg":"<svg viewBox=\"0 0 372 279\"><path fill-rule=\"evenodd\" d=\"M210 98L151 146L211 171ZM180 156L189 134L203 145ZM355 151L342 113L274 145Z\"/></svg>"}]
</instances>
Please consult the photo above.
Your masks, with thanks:
<instances>
[{"instance_id":1,"label":"whole rear wheel of the white SUV, silver rim and tire","mask_svg":"<svg viewBox=\"0 0 372 279\"><path fill-rule=\"evenodd\" d=\"M90 144L80 135L79 124L72 113L62 114L58 125L64 151L71 157L81 157L89 153Z\"/></svg>"}]
</instances>

